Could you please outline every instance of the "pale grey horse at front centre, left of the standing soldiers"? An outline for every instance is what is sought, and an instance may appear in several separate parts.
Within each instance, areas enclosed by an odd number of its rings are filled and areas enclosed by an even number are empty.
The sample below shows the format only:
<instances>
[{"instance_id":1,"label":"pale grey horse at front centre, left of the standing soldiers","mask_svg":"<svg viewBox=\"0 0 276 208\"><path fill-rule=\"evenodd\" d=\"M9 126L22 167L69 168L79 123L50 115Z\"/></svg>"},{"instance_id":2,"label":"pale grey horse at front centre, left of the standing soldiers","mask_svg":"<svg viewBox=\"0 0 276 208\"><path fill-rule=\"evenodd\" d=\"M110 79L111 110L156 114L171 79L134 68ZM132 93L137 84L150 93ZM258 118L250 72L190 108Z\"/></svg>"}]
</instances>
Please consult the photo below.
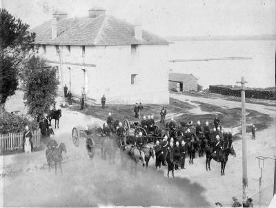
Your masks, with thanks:
<instances>
[{"instance_id":1,"label":"pale grey horse at front centre, left of the standing soldiers","mask_svg":"<svg viewBox=\"0 0 276 208\"><path fill-rule=\"evenodd\" d=\"M137 164L139 162L139 160L141 160L143 167L145 167L145 153L143 151L139 151L139 149L137 148L137 146L133 146L130 144L126 144L124 146L124 153L126 156L130 157L130 163L131 163L131 172L133 171L133 169L135 170L135 173L137 171ZM124 157L123 157L124 158ZM123 159L122 158L122 159ZM125 157L126 159L126 157ZM121 160L122 164L124 163L124 165L126 165L126 160Z\"/></svg>"}]
</instances>

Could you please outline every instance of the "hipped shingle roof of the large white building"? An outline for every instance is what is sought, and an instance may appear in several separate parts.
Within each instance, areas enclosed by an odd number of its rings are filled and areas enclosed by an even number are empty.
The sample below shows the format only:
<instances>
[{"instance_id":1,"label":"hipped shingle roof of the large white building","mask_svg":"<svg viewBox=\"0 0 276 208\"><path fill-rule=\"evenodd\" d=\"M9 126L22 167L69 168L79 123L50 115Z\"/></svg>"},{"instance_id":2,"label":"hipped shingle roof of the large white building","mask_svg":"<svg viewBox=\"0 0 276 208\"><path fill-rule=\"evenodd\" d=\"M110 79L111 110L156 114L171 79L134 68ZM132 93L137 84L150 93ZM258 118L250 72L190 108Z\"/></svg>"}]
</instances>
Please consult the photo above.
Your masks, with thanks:
<instances>
[{"instance_id":1,"label":"hipped shingle roof of the large white building","mask_svg":"<svg viewBox=\"0 0 276 208\"><path fill-rule=\"evenodd\" d=\"M57 21L57 38L52 39L51 21L30 30L36 33L34 44L50 45L123 45L169 44L166 39L143 30L143 39L134 37L134 26L110 15L63 18Z\"/></svg>"}]
</instances>

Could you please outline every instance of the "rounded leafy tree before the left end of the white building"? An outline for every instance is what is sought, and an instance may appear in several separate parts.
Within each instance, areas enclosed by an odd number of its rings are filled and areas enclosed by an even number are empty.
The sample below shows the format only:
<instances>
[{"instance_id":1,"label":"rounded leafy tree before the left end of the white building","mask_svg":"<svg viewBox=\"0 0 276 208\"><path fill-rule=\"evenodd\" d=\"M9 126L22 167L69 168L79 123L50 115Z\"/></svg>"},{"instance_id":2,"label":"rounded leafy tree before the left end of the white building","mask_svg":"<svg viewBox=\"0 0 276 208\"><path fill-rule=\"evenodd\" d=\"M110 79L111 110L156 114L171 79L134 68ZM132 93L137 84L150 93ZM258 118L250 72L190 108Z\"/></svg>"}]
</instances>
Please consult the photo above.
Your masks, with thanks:
<instances>
[{"instance_id":1,"label":"rounded leafy tree before the left end of the white building","mask_svg":"<svg viewBox=\"0 0 276 208\"><path fill-rule=\"evenodd\" d=\"M34 55L24 64L22 78L28 113L39 120L44 113L50 113L50 106L55 104L59 84L57 70Z\"/></svg>"}]
</instances>

